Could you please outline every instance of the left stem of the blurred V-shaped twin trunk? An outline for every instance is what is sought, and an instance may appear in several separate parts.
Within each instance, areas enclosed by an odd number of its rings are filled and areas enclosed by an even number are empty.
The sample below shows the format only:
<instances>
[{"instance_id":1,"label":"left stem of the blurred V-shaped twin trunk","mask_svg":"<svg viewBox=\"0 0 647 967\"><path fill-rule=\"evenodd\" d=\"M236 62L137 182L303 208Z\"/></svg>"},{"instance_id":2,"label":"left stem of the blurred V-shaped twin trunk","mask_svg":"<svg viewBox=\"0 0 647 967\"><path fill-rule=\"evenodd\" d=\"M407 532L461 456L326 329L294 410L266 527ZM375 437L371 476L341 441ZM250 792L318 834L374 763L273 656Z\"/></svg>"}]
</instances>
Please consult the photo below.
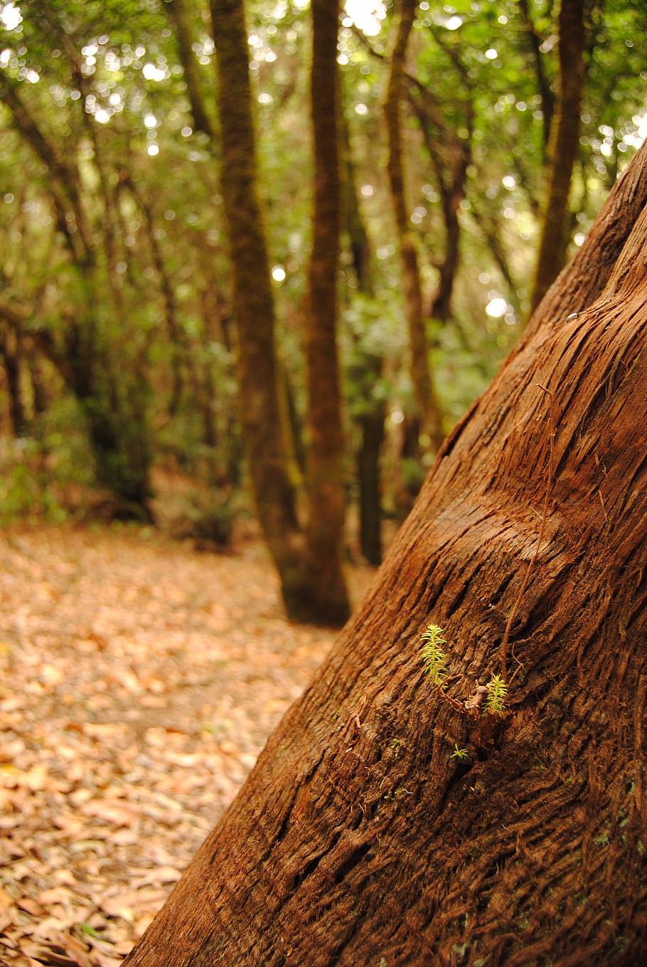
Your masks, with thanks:
<instances>
[{"instance_id":1,"label":"left stem of the blurred V-shaped twin trunk","mask_svg":"<svg viewBox=\"0 0 647 967\"><path fill-rule=\"evenodd\" d=\"M222 132L221 183L229 224L239 333L240 418L257 513L292 614L299 548L277 390L274 306L256 185L247 33L241 0L211 0Z\"/></svg>"}]
</instances>

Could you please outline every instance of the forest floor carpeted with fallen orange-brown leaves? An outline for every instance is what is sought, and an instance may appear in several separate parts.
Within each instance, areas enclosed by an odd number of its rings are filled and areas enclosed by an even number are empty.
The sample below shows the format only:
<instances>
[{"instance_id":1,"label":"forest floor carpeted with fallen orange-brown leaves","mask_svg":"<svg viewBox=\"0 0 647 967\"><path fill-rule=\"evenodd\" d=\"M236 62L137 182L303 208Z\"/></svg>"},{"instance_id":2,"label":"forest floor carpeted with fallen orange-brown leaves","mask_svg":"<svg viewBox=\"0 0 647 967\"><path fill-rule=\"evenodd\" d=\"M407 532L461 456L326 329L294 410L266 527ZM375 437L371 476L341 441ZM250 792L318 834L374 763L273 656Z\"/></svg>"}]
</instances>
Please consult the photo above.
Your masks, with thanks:
<instances>
[{"instance_id":1,"label":"forest floor carpeted with fallen orange-brown leaves","mask_svg":"<svg viewBox=\"0 0 647 967\"><path fill-rule=\"evenodd\" d=\"M334 638L286 620L250 535L5 531L0 964L120 963Z\"/></svg>"}]
</instances>

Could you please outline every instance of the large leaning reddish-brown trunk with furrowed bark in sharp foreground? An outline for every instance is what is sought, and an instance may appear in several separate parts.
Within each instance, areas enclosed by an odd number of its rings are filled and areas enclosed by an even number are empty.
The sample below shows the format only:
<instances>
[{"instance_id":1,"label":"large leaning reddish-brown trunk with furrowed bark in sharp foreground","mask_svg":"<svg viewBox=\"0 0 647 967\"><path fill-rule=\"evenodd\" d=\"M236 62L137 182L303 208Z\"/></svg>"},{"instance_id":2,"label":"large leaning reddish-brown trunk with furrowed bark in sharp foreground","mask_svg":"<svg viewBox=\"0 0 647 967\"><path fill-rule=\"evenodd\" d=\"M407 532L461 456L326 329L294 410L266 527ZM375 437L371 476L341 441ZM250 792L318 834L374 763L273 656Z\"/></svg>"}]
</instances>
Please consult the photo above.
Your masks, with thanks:
<instances>
[{"instance_id":1,"label":"large leaning reddish-brown trunk with furrowed bark in sharp foreground","mask_svg":"<svg viewBox=\"0 0 647 967\"><path fill-rule=\"evenodd\" d=\"M641 962L646 174L647 145L128 967Z\"/></svg>"}]
</instances>

